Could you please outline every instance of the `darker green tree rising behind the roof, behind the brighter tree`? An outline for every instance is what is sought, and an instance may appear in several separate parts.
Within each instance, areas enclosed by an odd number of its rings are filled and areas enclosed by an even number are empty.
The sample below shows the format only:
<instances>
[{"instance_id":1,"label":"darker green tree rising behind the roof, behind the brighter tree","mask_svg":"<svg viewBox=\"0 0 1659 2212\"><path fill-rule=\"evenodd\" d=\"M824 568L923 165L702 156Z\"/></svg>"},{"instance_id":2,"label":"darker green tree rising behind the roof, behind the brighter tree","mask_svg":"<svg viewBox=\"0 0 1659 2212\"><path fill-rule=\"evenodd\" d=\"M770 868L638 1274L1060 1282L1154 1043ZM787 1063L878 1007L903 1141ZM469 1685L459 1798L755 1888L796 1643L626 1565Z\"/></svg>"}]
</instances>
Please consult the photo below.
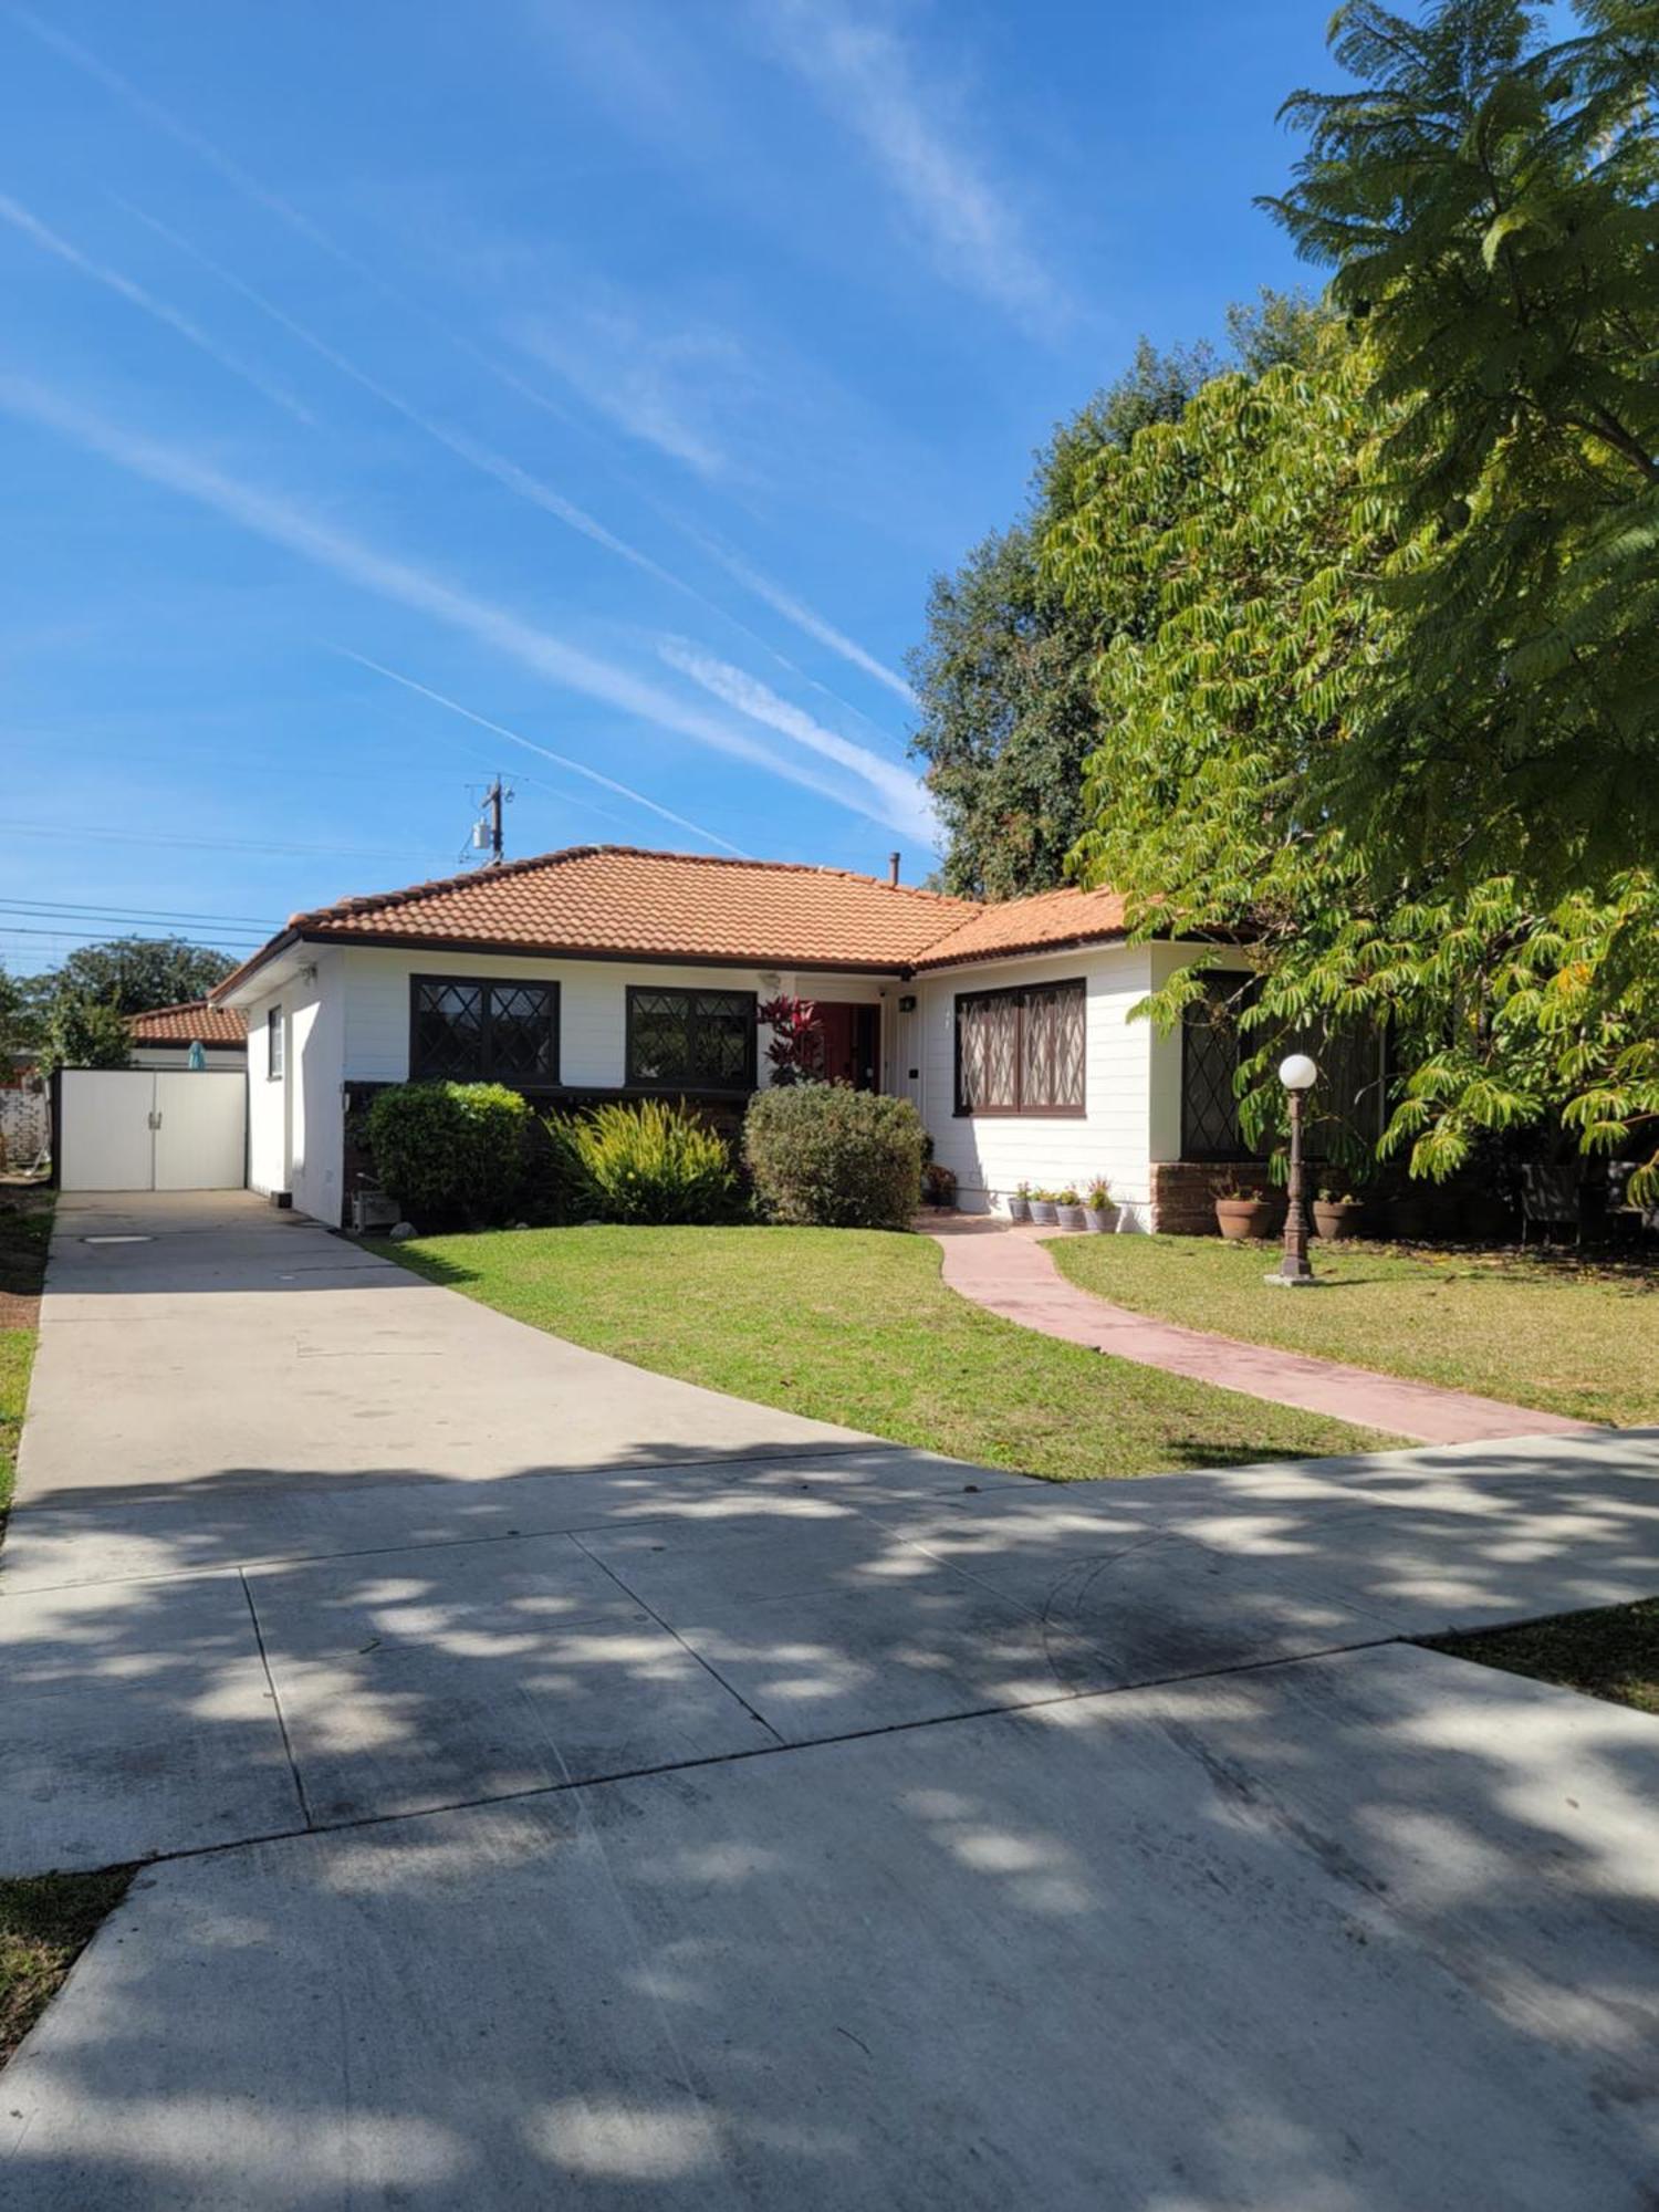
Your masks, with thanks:
<instances>
[{"instance_id":1,"label":"darker green tree rising behind the roof, behind the brighter tree","mask_svg":"<svg viewBox=\"0 0 1659 2212\"><path fill-rule=\"evenodd\" d=\"M1294 358L1321 316L1296 294L1228 310L1228 356L1210 345L1159 352L1141 338L1117 383L1062 422L1037 456L1026 513L933 580L927 641L911 655L925 765L947 834L940 883L971 898L1015 898L1066 880L1084 830L1082 770L1095 741L1091 666L1106 644L1095 611L1066 599L1040 560L1104 451L1175 420L1225 358L1245 374Z\"/></svg>"}]
</instances>

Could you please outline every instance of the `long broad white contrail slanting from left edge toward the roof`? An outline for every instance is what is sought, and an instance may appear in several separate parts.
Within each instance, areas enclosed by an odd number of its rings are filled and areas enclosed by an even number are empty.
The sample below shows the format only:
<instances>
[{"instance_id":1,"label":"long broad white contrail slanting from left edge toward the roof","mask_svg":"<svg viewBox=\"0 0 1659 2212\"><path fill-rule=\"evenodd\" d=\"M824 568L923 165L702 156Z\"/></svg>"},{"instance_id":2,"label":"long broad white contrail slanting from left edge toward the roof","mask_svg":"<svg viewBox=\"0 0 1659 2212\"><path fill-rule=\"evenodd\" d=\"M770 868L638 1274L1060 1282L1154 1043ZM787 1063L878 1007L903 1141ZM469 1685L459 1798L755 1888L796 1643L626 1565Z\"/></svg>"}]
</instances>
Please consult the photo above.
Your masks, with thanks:
<instances>
[{"instance_id":1,"label":"long broad white contrail slanting from left edge toward the roof","mask_svg":"<svg viewBox=\"0 0 1659 2212\"><path fill-rule=\"evenodd\" d=\"M816 792L821 799L830 799L856 814L885 818L874 812L863 790L847 790L830 776L816 774L792 754L748 739L728 721L688 706L659 684L650 684L626 668L617 668L613 661L584 653L551 630L524 622L524 617L509 608L493 606L476 593L449 584L394 553L383 553L365 540L336 529L332 522L307 513L292 500L239 482L179 447L137 436L22 376L0 376L0 407L22 420L55 429L86 451L102 453L131 476L139 476L146 482L161 484L181 498L208 507L239 529L296 553L301 560L325 568L330 575L338 575L361 591L376 593L418 615L442 622L447 628L518 661L551 684L560 684L659 730L672 730L768 774L783 776L787 783L799 783L803 790Z\"/></svg>"}]
</instances>

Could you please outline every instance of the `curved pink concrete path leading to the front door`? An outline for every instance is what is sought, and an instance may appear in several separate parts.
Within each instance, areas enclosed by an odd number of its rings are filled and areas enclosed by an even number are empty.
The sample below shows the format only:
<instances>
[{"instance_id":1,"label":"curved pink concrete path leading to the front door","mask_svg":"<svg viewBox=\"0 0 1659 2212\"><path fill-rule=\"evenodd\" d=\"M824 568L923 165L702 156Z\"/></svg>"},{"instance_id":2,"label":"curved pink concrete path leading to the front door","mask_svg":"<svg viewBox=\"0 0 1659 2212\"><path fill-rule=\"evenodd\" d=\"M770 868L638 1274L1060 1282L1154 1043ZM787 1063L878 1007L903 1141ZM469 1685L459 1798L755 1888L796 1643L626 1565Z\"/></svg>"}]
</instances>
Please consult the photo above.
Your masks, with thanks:
<instances>
[{"instance_id":1,"label":"curved pink concrete path leading to the front door","mask_svg":"<svg viewBox=\"0 0 1659 2212\"><path fill-rule=\"evenodd\" d=\"M1057 1274L1040 1239L1051 1228L1015 1228L982 1214L929 1214L920 1228L945 1250L945 1281L975 1305L1073 1345L1110 1352L1141 1367L1192 1376L1221 1389L1239 1389L1274 1405L1298 1405L1305 1413L1334 1413L1365 1429L1387 1429L1422 1444L1478 1444L1498 1436L1595 1436L1586 1420L1540 1413L1498 1398L1475 1398L1433 1383L1405 1383L1369 1367L1245 1345L1234 1336L1186 1329L1175 1321L1152 1321L1126 1305L1110 1305L1077 1290ZM1316 1298L1318 1292L1267 1290L1263 1298Z\"/></svg>"}]
</instances>

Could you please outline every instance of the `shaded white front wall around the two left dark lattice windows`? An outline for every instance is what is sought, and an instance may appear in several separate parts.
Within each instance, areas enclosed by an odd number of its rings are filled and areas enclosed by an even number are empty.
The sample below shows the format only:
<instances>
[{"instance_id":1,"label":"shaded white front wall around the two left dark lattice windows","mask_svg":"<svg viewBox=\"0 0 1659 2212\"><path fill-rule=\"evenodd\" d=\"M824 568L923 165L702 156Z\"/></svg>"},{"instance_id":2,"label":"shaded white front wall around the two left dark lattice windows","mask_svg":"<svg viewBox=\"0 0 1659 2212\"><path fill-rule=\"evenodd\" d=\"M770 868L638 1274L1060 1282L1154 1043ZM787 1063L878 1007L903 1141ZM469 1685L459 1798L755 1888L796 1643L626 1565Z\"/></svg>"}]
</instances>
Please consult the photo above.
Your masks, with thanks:
<instances>
[{"instance_id":1,"label":"shaded white front wall around the two left dark lattice windows","mask_svg":"<svg viewBox=\"0 0 1659 2212\"><path fill-rule=\"evenodd\" d=\"M345 1077L361 1084L409 1079L409 978L471 975L504 982L557 982L560 1082L575 1091L617 1091L628 1071L628 987L664 991L754 991L757 998L823 998L878 1004L896 984L876 975L807 975L779 969L672 967L628 960L504 960L500 953L422 953L349 945L336 953L345 1002ZM759 1079L765 1084L765 1037ZM299 1203L299 1199L296 1199Z\"/></svg>"}]
</instances>

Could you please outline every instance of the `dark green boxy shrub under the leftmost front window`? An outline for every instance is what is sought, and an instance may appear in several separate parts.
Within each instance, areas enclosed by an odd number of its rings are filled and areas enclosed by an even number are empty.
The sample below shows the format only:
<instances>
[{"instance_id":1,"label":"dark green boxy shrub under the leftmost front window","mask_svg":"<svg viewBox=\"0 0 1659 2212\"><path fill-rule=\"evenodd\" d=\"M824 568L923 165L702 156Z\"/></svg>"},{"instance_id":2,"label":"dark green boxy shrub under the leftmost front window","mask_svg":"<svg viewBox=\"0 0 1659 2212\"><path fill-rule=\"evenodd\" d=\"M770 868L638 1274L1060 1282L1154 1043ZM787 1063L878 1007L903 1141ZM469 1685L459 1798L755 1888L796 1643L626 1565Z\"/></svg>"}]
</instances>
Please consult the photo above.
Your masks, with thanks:
<instances>
[{"instance_id":1,"label":"dark green boxy shrub under the leftmost front window","mask_svg":"<svg viewBox=\"0 0 1659 2212\"><path fill-rule=\"evenodd\" d=\"M504 1084L394 1084L369 1102L374 1172L420 1228L507 1221L529 1121Z\"/></svg>"}]
</instances>

